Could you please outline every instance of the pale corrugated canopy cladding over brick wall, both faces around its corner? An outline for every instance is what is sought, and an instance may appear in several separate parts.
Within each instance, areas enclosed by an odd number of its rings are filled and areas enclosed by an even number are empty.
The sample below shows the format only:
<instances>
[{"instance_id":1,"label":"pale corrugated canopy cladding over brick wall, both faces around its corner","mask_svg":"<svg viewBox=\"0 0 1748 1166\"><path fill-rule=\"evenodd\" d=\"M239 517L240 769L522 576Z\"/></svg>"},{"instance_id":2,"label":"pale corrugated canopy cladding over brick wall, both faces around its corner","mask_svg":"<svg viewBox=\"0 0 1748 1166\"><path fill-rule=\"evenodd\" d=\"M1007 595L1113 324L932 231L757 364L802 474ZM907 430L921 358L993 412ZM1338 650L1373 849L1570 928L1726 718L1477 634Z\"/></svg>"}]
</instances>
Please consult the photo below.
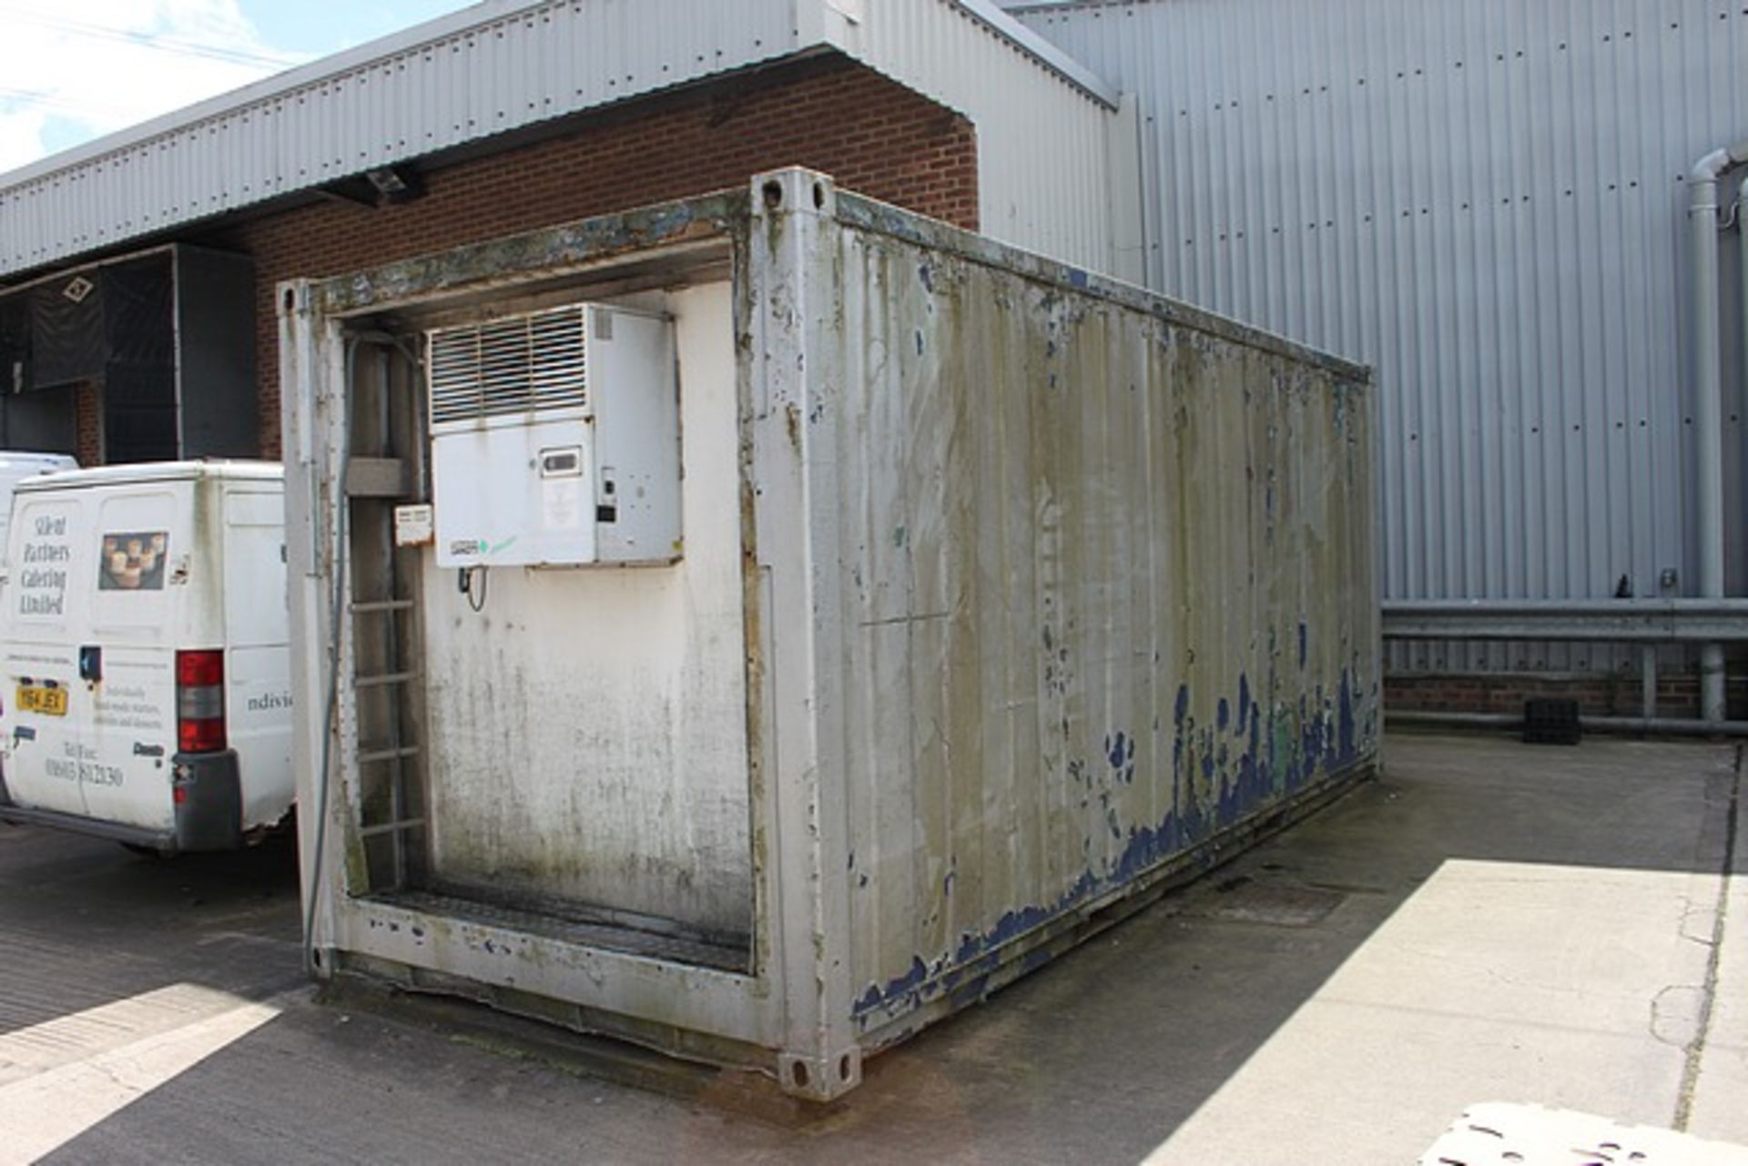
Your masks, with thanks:
<instances>
[{"instance_id":1,"label":"pale corrugated canopy cladding over brick wall, both faces around its corner","mask_svg":"<svg viewBox=\"0 0 1748 1166\"><path fill-rule=\"evenodd\" d=\"M977 12L960 0L467 9L5 175L0 274L816 49L841 49L977 124L991 234L1103 269L1110 107L1065 75L1073 63L1052 68L1016 42L1033 33L972 3ZM1056 52L1042 38L1038 49Z\"/></svg>"}]
</instances>

